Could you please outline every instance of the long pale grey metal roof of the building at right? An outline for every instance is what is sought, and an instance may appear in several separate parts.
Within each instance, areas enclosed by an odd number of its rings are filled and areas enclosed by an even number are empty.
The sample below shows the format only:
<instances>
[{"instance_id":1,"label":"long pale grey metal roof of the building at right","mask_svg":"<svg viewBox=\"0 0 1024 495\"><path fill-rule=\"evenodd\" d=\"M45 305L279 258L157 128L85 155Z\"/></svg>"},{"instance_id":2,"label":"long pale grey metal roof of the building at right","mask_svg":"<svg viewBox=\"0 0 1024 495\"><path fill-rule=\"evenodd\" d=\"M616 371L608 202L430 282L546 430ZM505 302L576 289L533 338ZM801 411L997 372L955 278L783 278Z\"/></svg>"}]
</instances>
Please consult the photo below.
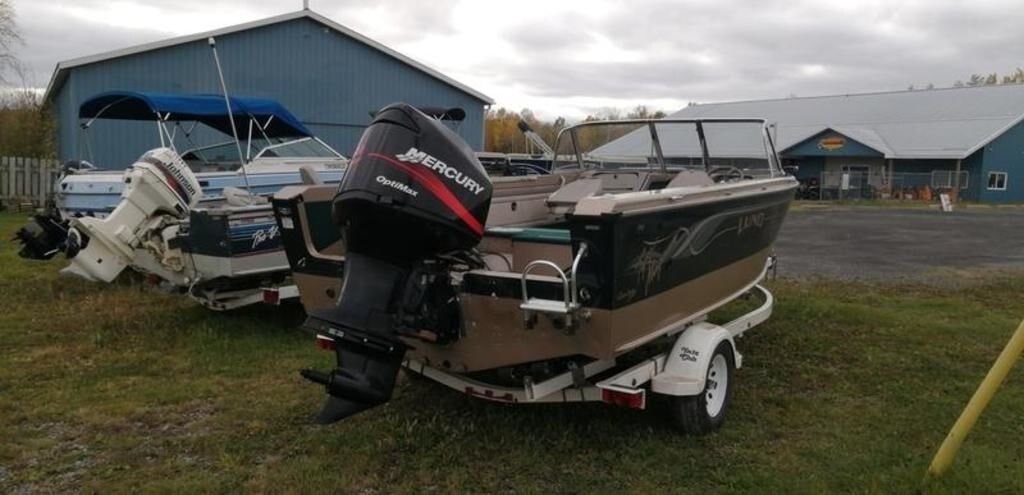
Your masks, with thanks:
<instances>
[{"instance_id":1,"label":"long pale grey metal roof of the building at right","mask_svg":"<svg viewBox=\"0 0 1024 495\"><path fill-rule=\"evenodd\" d=\"M886 158L963 159L1024 120L1024 85L700 104L672 117L763 118L779 152L831 129Z\"/></svg>"}]
</instances>

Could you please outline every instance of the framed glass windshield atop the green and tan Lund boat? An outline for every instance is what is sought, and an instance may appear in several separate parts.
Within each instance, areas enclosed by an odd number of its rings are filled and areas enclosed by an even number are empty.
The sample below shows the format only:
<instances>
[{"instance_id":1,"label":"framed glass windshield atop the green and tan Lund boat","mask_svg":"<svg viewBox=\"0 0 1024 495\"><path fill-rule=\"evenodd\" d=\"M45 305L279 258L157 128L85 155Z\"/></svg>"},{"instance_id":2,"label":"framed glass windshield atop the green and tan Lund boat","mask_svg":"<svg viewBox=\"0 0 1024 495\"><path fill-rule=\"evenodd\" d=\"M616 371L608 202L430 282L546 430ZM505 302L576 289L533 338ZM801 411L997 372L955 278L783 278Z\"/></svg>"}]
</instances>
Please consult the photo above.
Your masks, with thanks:
<instances>
[{"instance_id":1,"label":"framed glass windshield atop the green and tan Lund boat","mask_svg":"<svg viewBox=\"0 0 1024 495\"><path fill-rule=\"evenodd\" d=\"M555 155L555 169L693 168L743 177L779 171L760 120L586 122L558 135Z\"/></svg>"}]
</instances>

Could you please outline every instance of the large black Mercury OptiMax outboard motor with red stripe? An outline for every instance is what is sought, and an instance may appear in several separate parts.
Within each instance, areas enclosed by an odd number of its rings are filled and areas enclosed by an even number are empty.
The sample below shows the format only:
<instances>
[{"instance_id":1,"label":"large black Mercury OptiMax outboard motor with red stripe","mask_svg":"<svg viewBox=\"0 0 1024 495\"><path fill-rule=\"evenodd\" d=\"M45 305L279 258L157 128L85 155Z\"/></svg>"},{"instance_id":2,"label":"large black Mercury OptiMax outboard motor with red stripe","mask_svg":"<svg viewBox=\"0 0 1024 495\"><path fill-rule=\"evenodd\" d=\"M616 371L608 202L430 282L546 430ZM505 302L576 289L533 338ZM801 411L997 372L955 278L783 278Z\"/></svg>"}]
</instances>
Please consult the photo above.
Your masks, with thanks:
<instances>
[{"instance_id":1,"label":"large black Mercury OptiMax outboard motor with red stripe","mask_svg":"<svg viewBox=\"0 0 1024 495\"><path fill-rule=\"evenodd\" d=\"M492 193L473 151L443 124L404 104L376 115L334 199L346 251L337 304L305 323L334 339L338 360L331 372L302 371L330 395L321 422L390 400L401 337L459 337L451 272L478 259Z\"/></svg>"}]
</instances>

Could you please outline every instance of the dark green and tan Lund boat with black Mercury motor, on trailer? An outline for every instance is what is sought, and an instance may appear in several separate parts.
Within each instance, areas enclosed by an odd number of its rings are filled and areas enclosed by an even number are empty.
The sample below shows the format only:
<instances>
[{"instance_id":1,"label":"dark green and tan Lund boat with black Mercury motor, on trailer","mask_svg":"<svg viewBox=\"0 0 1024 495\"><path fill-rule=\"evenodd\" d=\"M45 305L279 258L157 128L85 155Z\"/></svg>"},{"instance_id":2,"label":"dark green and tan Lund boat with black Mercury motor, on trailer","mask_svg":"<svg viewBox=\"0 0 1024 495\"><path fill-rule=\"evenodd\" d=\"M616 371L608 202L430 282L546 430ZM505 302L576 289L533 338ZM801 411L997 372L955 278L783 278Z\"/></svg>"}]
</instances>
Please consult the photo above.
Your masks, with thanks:
<instances>
[{"instance_id":1,"label":"dark green and tan Lund boat with black Mercury motor, on trailer","mask_svg":"<svg viewBox=\"0 0 1024 495\"><path fill-rule=\"evenodd\" d=\"M765 123L590 122L555 150L550 175L488 178L454 133L394 105L339 189L274 196L305 327L337 354L302 373L330 396L321 421L388 401L406 366L514 403L642 408L651 382L687 430L721 424L735 337L770 315L758 284L797 188ZM751 291L758 312L705 321ZM665 338L671 352L595 378Z\"/></svg>"}]
</instances>

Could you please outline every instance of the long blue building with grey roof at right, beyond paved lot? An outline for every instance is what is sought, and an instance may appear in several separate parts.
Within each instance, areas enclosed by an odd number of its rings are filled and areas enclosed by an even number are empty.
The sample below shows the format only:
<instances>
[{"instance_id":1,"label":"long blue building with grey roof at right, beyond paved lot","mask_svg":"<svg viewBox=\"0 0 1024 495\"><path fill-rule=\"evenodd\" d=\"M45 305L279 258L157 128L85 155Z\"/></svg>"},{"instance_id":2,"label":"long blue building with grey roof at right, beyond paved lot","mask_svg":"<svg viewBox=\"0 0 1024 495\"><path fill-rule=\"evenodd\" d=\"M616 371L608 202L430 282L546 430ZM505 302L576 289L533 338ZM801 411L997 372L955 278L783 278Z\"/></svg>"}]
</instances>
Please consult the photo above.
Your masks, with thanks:
<instances>
[{"instance_id":1,"label":"long blue building with grey roof at right, beyond paved lot","mask_svg":"<svg viewBox=\"0 0 1024 495\"><path fill-rule=\"evenodd\" d=\"M970 201L1024 202L1024 85L692 105L673 117L766 119L783 160L826 198L958 188Z\"/></svg>"}]
</instances>

